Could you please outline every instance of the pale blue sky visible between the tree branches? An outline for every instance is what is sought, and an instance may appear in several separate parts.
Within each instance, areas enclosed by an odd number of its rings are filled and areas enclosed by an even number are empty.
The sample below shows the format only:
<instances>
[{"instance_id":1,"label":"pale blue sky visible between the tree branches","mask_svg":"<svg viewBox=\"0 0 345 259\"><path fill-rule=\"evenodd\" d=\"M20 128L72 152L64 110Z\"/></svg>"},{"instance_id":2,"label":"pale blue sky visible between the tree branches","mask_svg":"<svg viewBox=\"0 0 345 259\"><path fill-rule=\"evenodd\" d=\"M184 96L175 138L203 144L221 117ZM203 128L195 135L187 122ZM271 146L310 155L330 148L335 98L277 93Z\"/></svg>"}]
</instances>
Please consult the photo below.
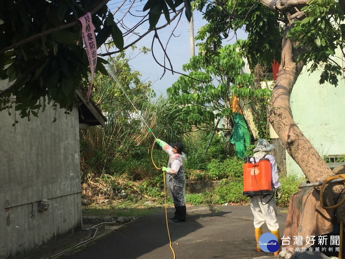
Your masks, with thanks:
<instances>
[{"instance_id":1,"label":"pale blue sky visible between the tree branches","mask_svg":"<svg viewBox=\"0 0 345 259\"><path fill-rule=\"evenodd\" d=\"M128 3L127 3L128 2ZM127 1L118 12L115 13L114 19L120 20L125 12L128 10L128 7L132 2ZM144 8L145 3L147 0L142 0L141 2L136 0L136 2L133 4L132 10L137 11L131 11L132 13L135 13L135 15L143 15L146 14L147 11L144 13L142 12L142 9ZM108 7L110 8L111 12L115 12L117 8L120 6L122 1L119 0L112 0L109 1ZM170 15L172 17L172 14ZM196 36L197 31L200 27L204 26L206 21L202 18L202 13L199 11L193 12L194 17L194 36ZM131 16L130 14L126 14L123 22L127 27L133 26L139 21L140 18ZM161 26L166 23L166 20L164 18L164 15L161 16L157 27ZM177 27L176 27L177 25ZM187 21L187 18L185 14L183 14L182 18L177 24L177 19L171 22L170 25L167 27L158 30L158 36L165 47L167 44L167 41L170 37L170 34L172 30L176 27L174 31L174 36L171 37L169 40L168 46L167 46L167 54L168 57L172 63L172 67L175 71L178 71L180 73L183 72L182 65L185 63L188 63L191 54L190 54L190 30L189 30L189 22ZM120 27L120 26L119 26ZM131 28L131 27L130 27ZM139 35L145 33L149 28L148 22L146 24L143 24L142 26L138 27L136 30L136 33ZM121 31L124 32L125 29L121 28ZM137 42L137 47L141 48L142 46L145 46L147 48L151 49L152 39L154 37L154 32L150 32L148 35L146 35L143 39L141 39L139 42ZM137 36L132 35L130 37L125 38L125 46L132 42L134 39L136 39ZM232 38L229 36L229 39ZM237 33L238 39L246 39L247 36L243 31L240 31ZM235 42L235 37L231 40L225 40L224 45L226 44L232 44ZM126 44L127 43L127 44ZM197 43L197 42L195 42ZM159 46L158 40L155 40L153 52L155 54L156 59L163 64L164 63L164 52L161 50L161 47ZM127 50L127 53L130 53L130 50ZM197 47L195 47L195 54L198 53ZM129 64L132 66L133 69L138 70L142 74L142 80L144 81L151 81L153 83L152 88L153 90L159 94L166 94L166 89L169 88L172 83L174 83L178 77L180 76L177 73L172 74L171 71L166 70L164 76L162 77L164 73L164 68L160 67L154 58L152 57L152 53L148 54L137 54L133 53L131 57L132 58L129 61ZM170 68L168 60L166 59L166 67ZM162 77L162 78L161 78ZM161 78L161 79L160 79Z\"/></svg>"}]
</instances>

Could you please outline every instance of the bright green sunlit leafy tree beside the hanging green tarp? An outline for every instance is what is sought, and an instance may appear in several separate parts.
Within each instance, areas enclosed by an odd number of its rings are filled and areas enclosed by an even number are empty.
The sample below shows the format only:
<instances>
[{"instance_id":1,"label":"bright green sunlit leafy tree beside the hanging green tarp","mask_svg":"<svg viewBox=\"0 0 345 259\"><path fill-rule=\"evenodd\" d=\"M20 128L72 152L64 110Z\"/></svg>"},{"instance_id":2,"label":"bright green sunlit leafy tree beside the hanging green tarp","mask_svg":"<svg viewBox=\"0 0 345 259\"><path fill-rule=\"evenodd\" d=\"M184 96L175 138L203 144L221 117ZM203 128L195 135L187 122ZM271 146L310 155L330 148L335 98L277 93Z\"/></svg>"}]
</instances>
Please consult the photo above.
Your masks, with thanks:
<instances>
[{"instance_id":1,"label":"bright green sunlit leafy tree beside the hanging green tarp","mask_svg":"<svg viewBox=\"0 0 345 259\"><path fill-rule=\"evenodd\" d=\"M226 45L208 56L199 49L199 55L184 64L182 75L168 88L170 100L181 107L180 120L185 130L215 128L215 121L223 119L217 130L229 131L233 125L231 102L234 96L266 105L272 91L254 85L254 74L242 72L245 53L240 49L243 41ZM260 121L265 120L260 118ZM266 117L267 122L267 117ZM262 128L259 131L262 132Z\"/></svg>"}]
</instances>

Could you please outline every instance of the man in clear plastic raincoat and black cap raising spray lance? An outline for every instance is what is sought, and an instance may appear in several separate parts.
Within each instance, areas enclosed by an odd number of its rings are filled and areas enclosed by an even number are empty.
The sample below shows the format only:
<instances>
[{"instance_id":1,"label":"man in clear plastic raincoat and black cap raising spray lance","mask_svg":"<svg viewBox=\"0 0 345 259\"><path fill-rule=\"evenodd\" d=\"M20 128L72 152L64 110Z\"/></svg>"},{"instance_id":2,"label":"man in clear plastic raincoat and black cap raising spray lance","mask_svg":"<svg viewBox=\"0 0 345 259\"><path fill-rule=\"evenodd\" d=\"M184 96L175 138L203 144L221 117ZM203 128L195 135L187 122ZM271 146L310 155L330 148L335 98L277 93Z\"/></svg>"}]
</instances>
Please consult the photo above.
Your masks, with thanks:
<instances>
[{"instance_id":1,"label":"man in clear plastic raincoat and black cap raising spray lance","mask_svg":"<svg viewBox=\"0 0 345 259\"><path fill-rule=\"evenodd\" d=\"M180 142L168 145L166 142L156 139L159 146L169 154L168 167L162 167L166 171L166 185L175 205L175 216L172 222L186 221L186 154L182 152L183 145Z\"/></svg>"}]
</instances>

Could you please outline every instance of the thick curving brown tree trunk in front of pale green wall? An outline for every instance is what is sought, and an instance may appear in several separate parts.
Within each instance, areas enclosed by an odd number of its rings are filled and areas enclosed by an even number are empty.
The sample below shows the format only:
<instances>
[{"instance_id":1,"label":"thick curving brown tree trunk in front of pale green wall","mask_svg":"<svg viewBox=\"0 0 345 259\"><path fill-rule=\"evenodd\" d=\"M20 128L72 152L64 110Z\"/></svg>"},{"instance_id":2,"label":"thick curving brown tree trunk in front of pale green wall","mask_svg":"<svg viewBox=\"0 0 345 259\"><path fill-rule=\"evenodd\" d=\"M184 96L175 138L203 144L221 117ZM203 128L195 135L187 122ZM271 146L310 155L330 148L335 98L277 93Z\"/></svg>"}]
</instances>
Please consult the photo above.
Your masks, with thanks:
<instances>
[{"instance_id":1,"label":"thick curving brown tree trunk in front of pale green wall","mask_svg":"<svg viewBox=\"0 0 345 259\"><path fill-rule=\"evenodd\" d=\"M305 51L295 48L294 44L290 39L284 37L282 61L273 89L272 108L268 112L268 118L280 140L284 143L288 154L302 169L306 178L310 182L324 181L328 177L334 176L334 173L300 131L293 120L290 108L290 94L304 66L303 62L296 64L296 58L301 51ZM341 186L342 184L332 184L325 188L323 195L325 206L332 206L343 199L343 194L339 197L342 190ZM337 209L336 215L342 220L345 219L345 203Z\"/></svg>"}]
</instances>

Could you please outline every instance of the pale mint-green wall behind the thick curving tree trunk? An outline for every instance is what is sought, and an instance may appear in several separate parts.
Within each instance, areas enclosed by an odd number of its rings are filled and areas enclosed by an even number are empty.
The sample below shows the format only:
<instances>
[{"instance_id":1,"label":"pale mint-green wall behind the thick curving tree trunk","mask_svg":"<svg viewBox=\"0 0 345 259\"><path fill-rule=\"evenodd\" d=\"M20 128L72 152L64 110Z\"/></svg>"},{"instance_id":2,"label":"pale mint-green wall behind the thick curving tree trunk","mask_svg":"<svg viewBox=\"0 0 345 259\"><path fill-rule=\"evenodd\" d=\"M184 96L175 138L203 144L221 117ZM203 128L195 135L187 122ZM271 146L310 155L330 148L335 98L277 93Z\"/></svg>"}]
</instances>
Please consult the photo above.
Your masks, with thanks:
<instances>
[{"instance_id":1,"label":"pale mint-green wall behind the thick curving tree trunk","mask_svg":"<svg viewBox=\"0 0 345 259\"><path fill-rule=\"evenodd\" d=\"M341 57L340 51L336 53ZM337 60L342 64L341 60ZM345 154L345 82L339 77L338 86L318 83L322 67L309 75L307 67L292 90L290 104L297 126L321 156ZM296 162L286 153L288 175L304 177Z\"/></svg>"}]
</instances>

